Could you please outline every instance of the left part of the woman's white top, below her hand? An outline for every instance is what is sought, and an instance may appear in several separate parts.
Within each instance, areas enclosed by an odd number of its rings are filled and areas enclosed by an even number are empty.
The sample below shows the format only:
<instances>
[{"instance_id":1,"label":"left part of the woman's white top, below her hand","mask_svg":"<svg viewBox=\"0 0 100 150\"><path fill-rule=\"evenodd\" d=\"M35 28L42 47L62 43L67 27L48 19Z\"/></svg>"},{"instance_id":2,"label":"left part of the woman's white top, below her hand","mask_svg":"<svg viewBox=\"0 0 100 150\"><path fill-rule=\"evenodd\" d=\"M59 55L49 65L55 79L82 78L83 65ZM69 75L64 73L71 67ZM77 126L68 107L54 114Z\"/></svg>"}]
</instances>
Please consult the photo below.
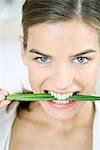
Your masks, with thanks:
<instances>
[{"instance_id":1,"label":"left part of the woman's white top, below her hand","mask_svg":"<svg viewBox=\"0 0 100 150\"><path fill-rule=\"evenodd\" d=\"M0 108L0 150L9 150L11 129L16 117L18 103L7 113L6 106Z\"/></svg>"}]
</instances>

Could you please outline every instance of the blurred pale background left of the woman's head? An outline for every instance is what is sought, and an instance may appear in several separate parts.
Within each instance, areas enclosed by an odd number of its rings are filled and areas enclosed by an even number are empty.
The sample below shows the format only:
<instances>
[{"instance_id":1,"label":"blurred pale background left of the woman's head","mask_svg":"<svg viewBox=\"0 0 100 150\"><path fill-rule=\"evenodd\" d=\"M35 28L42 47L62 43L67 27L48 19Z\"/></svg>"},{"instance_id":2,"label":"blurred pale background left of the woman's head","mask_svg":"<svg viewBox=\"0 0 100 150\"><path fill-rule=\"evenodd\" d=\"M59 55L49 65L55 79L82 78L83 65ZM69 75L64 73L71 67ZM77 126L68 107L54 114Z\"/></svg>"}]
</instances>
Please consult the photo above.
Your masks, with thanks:
<instances>
[{"instance_id":1,"label":"blurred pale background left of the woman's head","mask_svg":"<svg viewBox=\"0 0 100 150\"><path fill-rule=\"evenodd\" d=\"M31 89L20 56L21 8L25 0L0 0L0 88L18 92Z\"/></svg>"}]
</instances>

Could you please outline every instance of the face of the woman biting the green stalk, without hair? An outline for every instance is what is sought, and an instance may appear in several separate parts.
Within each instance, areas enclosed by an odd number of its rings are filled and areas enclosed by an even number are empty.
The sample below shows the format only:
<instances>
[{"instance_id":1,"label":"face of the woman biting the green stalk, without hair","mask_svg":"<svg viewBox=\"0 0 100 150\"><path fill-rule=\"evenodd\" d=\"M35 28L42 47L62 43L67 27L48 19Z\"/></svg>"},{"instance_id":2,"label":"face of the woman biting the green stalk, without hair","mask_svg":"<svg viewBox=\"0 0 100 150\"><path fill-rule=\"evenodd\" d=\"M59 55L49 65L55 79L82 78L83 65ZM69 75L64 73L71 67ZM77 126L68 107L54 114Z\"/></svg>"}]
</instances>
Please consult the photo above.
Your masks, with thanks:
<instances>
[{"instance_id":1,"label":"face of the woman biting the green stalk, without hair","mask_svg":"<svg viewBox=\"0 0 100 150\"><path fill-rule=\"evenodd\" d=\"M22 48L22 56L33 92L46 90L60 100L75 91L91 95L100 64L98 43L96 32L78 20L30 27L27 49ZM89 102L38 103L53 118L71 119Z\"/></svg>"}]
</instances>

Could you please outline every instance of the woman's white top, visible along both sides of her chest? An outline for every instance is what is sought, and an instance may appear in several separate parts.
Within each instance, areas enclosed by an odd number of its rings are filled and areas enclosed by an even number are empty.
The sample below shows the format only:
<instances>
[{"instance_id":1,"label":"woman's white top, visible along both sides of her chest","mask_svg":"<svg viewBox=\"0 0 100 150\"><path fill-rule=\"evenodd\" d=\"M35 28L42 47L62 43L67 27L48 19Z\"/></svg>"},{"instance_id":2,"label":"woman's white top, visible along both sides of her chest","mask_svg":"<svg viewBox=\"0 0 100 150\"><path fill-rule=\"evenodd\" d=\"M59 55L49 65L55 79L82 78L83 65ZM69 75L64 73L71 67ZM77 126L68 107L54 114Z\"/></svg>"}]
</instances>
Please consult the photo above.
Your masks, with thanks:
<instances>
[{"instance_id":1,"label":"woman's white top, visible along both sides of her chest","mask_svg":"<svg viewBox=\"0 0 100 150\"><path fill-rule=\"evenodd\" d=\"M100 150L100 102L95 101L95 116L93 123L93 149ZM6 107L0 109L0 150L9 150L11 129L16 117L16 108L18 103L6 113Z\"/></svg>"}]
</instances>

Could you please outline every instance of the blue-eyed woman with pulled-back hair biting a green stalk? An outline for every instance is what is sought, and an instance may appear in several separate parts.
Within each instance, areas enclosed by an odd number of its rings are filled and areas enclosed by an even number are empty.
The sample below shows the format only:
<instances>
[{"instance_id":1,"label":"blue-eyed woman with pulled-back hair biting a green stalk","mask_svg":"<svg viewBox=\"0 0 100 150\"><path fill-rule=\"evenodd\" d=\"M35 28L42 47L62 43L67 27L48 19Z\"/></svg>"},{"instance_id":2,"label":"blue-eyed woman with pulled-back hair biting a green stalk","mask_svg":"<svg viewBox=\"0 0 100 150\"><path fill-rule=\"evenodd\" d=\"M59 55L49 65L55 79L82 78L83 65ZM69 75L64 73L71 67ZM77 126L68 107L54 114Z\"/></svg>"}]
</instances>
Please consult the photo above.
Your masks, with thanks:
<instances>
[{"instance_id":1,"label":"blue-eyed woman with pulled-back hair biting a green stalk","mask_svg":"<svg viewBox=\"0 0 100 150\"><path fill-rule=\"evenodd\" d=\"M60 102L13 103L8 112L3 107L2 150L99 150L99 102L62 102L75 92L94 93L99 8L99 0L26 0L20 42L32 92L51 93ZM2 90L1 106L9 103L4 95Z\"/></svg>"}]
</instances>

